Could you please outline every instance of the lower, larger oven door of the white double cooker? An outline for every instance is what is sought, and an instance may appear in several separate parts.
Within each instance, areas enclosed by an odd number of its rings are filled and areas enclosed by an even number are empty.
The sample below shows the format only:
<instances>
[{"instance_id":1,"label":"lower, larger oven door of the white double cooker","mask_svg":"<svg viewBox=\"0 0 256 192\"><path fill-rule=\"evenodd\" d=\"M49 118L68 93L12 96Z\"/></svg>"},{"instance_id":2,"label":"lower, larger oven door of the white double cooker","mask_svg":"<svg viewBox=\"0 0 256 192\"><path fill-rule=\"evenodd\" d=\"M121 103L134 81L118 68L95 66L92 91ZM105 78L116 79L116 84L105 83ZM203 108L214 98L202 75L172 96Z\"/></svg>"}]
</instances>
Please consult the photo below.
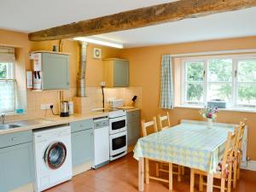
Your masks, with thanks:
<instances>
[{"instance_id":1,"label":"lower, larger oven door of the white double cooker","mask_svg":"<svg viewBox=\"0 0 256 192\"><path fill-rule=\"evenodd\" d=\"M127 131L110 135L110 156L127 151Z\"/></svg>"}]
</instances>

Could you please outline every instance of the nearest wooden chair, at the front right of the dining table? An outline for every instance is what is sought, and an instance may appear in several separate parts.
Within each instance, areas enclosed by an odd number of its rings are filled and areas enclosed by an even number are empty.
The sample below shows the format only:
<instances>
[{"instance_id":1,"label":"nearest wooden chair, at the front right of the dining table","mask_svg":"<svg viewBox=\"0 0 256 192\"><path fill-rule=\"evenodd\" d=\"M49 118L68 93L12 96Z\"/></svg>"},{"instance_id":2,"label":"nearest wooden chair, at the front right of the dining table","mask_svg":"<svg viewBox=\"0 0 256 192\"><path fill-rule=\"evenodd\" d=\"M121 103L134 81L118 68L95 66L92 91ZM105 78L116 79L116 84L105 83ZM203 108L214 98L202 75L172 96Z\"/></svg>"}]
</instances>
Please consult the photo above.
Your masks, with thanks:
<instances>
[{"instance_id":1,"label":"nearest wooden chair, at the front right of the dining table","mask_svg":"<svg viewBox=\"0 0 256 192\"><path fill-rule=\"evenodd\" d=\"M224 157L221 162L221 169L220 171L213 173L214 178L218 178L221 180L221 185L213 185L214 188L220 189L221 192L224 192L225 189L230 192L231 190L231 179L232 179L232 166L233 166L233 154L235 150L235 145L236 145L236 135L237 135L237 129L232 133L228 133L228 138L225 143L225 149L224 149ZM229 174L227 175L227 171ZM194 186L195 186L195 174L200 175L200 181L199 181L199 190L203 190L203 176L207 176L207 172L203 172L201 170L197 169L191 169L190 173L190 192L194 192ZM225 188L225 183L226 180L228 180L228 187Z\"/></svg>"}]
</instances>

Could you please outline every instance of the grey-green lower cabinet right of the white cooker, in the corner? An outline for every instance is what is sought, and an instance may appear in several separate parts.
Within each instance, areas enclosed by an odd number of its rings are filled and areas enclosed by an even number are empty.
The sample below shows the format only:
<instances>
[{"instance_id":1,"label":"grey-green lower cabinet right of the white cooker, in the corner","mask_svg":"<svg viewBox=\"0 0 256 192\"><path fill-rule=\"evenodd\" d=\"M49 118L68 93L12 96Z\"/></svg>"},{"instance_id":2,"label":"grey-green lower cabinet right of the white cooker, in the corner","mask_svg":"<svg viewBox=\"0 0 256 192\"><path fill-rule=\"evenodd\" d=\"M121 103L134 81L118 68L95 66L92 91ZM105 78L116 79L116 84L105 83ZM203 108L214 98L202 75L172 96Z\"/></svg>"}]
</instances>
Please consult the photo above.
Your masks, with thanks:
<instances>
[{"instance_id":1,"label":"grey-green lower cabinet right of the white cooker, in the corner","mask_svg":"<svg viewBox=\"0 0 256 192\"><path fill-rule=\"evenodd\" d=\"M128 146L137 143L140 137L140 110L127 112L127 144Z\"/></svg>"}]
</instances>

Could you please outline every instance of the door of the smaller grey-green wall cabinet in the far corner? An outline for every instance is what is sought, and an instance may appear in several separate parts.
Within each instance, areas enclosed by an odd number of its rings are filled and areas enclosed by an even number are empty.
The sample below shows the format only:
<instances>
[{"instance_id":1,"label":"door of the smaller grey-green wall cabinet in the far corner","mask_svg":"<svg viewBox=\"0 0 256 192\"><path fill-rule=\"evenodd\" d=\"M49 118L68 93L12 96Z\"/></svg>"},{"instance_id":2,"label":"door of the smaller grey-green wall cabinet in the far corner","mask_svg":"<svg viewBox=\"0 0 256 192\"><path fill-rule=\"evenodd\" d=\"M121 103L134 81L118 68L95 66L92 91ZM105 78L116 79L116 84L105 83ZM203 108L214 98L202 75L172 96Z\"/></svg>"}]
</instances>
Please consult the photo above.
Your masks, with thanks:
<instances>
[{"instance_id":1,"label":"door of the smaller grey-green wall cabinet in the far corner","mask_svg":"<svg viewBox=\"0 0 256 192\"><path fill-rule=\"evenodd\" d=\"M129 61L114 60L113 63L113 86L129 86Z\"/></svg>"}]
</instances>

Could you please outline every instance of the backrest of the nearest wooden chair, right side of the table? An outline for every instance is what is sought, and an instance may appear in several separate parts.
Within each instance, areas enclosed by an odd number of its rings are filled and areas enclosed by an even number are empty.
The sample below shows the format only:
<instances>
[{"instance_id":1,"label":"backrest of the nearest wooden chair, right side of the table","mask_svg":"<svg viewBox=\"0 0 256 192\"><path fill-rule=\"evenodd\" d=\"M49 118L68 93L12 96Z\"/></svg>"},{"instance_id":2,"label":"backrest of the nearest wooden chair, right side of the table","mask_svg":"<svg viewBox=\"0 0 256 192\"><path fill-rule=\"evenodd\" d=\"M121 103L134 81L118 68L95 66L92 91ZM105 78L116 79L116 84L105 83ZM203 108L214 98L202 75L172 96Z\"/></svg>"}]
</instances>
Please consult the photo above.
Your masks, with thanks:
<instances>
[{"instance_id":1,"label":"backrest of the nearest wooden chair, right side of the table","mask_svg":"<svg viewBox=\"0 0 256 192\"><path fill-rule=\"evenodd\" d=\"M232 160L233 160L237 132L238 132L237 127L235 128L234 132L229 132L227 141L225 143L224 157L223 157L222 165L221 165L221 172L224 177L226 176L227 165L230 166L230 162L232 162Z\"/></svg>"}]
</instances>

